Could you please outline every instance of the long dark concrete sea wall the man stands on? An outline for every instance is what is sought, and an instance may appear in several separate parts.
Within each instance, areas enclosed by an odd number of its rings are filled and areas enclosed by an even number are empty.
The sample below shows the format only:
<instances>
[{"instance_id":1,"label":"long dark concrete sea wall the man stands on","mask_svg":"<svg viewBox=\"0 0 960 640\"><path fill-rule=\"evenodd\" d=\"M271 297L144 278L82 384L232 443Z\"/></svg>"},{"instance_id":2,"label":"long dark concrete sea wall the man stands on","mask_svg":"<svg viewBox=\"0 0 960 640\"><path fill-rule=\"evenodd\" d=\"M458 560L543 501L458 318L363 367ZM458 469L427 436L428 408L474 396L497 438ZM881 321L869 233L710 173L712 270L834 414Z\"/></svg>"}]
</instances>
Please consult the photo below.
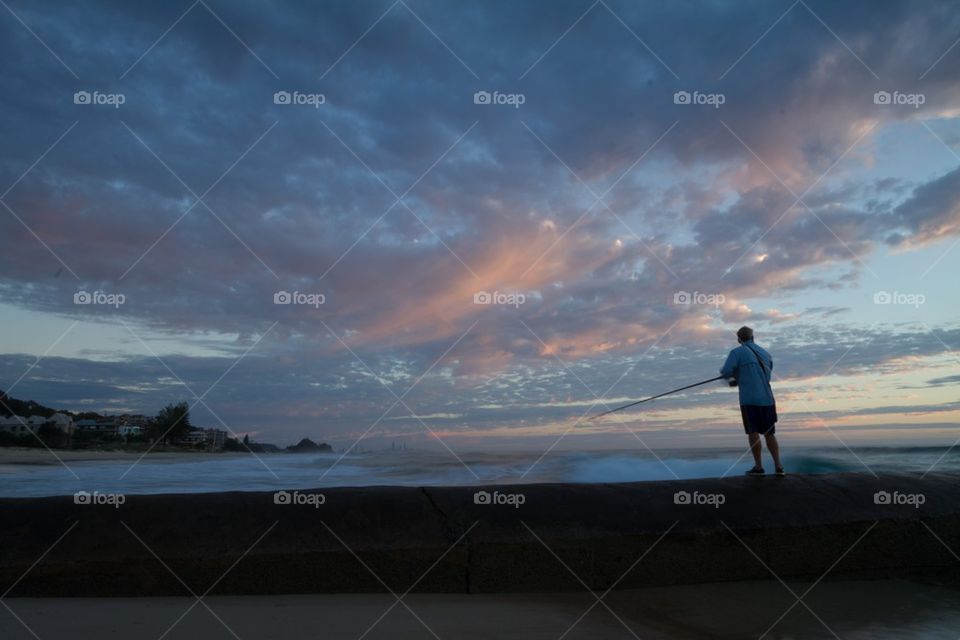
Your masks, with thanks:
<instances>
[{"instance_id":1,"label":"long dark concrete sea wall the man stands on","mask_svg":"<svg viewBox=\"0 0 960 640\"><path fill-rule=\"evenodd\" d=\"M841 556L831 576L956 576L960 562L944 545L960 552L958 480L836 474L301 492L322 493L318 507L275 504L269 492L126 496L119 507L3 499L0 585L15 585L12 596L602 590L769 578L767 567L817 578ZM521 494L523 504L475 504L478 490ZM923 504L876 504L878 491ZM677 492L705 502L677 504Z\"/></svg>"}]
</instances>

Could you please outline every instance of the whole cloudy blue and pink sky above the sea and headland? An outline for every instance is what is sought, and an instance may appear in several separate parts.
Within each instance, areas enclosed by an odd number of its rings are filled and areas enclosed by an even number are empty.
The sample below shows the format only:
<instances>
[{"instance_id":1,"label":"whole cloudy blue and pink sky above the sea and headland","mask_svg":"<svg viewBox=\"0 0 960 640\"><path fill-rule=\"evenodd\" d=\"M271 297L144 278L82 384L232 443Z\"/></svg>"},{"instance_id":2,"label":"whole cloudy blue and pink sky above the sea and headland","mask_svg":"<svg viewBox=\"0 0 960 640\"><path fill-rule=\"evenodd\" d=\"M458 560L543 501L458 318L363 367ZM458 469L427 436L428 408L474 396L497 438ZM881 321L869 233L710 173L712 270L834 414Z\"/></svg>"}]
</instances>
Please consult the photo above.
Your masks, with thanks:
<instances>
[{"instance_id":1,"label":"whole cloudy blue and pink sky above the sea and headland","mask_svg":"<svg viewBox=\"0 0 960 640\"><path fill-rule=\"evenodd\" d=\"M0 388L287 444L960 437L960 6L0 9Z\"/></svg>"}]
</instances>

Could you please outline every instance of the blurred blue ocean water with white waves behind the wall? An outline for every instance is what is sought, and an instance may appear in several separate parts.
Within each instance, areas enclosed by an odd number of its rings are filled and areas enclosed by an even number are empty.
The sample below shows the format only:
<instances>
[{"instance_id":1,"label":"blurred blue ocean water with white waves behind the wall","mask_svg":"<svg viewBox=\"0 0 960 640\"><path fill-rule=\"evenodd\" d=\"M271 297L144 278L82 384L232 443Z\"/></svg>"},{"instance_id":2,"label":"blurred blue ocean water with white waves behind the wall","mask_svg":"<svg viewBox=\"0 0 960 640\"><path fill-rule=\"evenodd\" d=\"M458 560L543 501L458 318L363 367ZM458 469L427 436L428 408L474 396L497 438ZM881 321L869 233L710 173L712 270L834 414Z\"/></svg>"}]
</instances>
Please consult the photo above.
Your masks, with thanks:
<instances>
[{"instance_id":1,"label":"blurred blue ocean water with white waves behind the wall","mask_svg":"<svg viewBox=\"0 0 960 640\"><path fill-rule=\"evenodd\" d=\"M92 452L92 458L97 457ZM104 459L53 456L43 464L0 463L0 497L39 497L76 491L156 494L272 491L350 486L444 486L536 482L637 482L739 475L749 466L743 449L650 452L457 452L381 450L328 454L105 454ZM11 461L12 460L12 461ZM791 449L788 473L960 472L960 447ZM772 465L764 453L764 465Z\"/></svg>"}]
</instances>

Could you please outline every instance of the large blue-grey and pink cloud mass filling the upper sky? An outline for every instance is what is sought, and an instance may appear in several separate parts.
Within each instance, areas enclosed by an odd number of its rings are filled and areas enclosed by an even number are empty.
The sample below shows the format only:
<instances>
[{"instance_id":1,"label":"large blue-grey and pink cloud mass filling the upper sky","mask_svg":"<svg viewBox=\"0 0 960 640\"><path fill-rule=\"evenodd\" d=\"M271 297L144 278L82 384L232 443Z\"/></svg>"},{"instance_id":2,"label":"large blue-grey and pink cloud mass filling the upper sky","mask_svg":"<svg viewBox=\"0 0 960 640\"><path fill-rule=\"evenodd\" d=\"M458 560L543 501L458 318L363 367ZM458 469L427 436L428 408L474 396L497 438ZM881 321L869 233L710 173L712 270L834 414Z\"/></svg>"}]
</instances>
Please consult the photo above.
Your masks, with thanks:
<instances>
[{"instance_id":1,"label":"large blue-grey and pink cloud mass filling the upper sky","mask_svg":"<svg viewBox=\"0 0 960 640\"><path fill-rule=\"evenodd\" d=\"M221 347L234 357L274 326L245 362L259 383L233 383L283 399L237 414L253 426L355 428L352 416L391 400L355 355L408 384L436 363L435 392L466 406L474 393L503 406L580 394L575 379L540 383L556 358L576 370L656 345L697 351L699 367L718 326L804 321L755 301L853 287L882 248L958 234L960 170L874 171L882 136L956 117L955 59L930 67L960 24L950 3L797 5L760 41L790 5L610 2L557 41L581 3L209 4L151 47L187 6L13 3L79 79L0 21L0 189L12 186L13 210L0 210L0 299L119 315L184 344L236 336ZM81 90L126 101L76 105ZM478 90L525 101L477 105ZM878 90L925 102L877 105ZM277 91L325 102L275 104ZM725 102L677 105L677 91ZM78 309L78 289L127 303ZM281 290L325 302L275 305ZM526 300L477 305L479 291ZM723 301L675 304L678 292ZM841 310L807 313L839 322ZM804 330L796 346L858 330L830 331ZM896 357L870 349L846 363ZM104 407L172 397L140 350L116 351L116 373L59 362L88 387L30 389ZM219 375L203 359L176 364L198 381ZM505 419L436 405L464 423Z\"/></svg>"}]
</instances>

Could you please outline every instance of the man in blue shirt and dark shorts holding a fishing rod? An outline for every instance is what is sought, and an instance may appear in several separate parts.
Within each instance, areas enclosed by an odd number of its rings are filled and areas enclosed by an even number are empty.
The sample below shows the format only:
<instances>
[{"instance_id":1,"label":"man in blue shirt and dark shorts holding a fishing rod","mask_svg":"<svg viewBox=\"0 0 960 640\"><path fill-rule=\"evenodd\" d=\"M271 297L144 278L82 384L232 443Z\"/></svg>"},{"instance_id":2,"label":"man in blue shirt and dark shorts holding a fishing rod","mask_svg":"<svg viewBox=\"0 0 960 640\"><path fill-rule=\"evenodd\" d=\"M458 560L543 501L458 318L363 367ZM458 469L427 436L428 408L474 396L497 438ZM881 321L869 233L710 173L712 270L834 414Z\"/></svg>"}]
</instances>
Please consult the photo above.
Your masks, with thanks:
<instances>
[{"instance_id":1,"label":"man in blue shirt and dark shorts holding a fishing rod","mask_svg":"<svg viewBox=\"0 0 960 640\"><path fill-rule=\"evenodd\" d=\"M753 342L753 329L750 327L740 327L737 330L737 342L740 346L727 356L720 375L727 379L731 387L740 389L740 416L743 418L743 430L747 434L754 462L747 475L761 476L764 473L760 457L763 452L760 444L762 435L773 458L774 470L778 476L782 476L780 445L774 435L777 429L777 402L770 387L773 358Z\"/></svg>"}]
</instances>

